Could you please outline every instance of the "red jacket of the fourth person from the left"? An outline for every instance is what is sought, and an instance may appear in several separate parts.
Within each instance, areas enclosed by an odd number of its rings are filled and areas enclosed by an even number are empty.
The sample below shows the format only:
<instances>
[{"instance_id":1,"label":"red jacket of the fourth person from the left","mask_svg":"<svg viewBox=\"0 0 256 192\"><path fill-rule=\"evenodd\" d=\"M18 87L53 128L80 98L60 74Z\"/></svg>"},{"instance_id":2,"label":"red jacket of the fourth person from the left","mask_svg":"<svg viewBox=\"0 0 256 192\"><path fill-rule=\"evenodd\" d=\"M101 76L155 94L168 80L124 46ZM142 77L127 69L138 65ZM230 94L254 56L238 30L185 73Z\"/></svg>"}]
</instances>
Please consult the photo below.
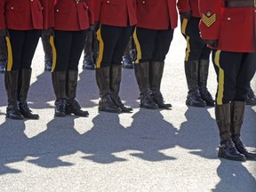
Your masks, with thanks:
<instances>
[{"instance_id":1,"label":"red jacket of the fourth person from the left","mask_svg":"<svg viewBox=\"0 0 256 192\"><path fill-rule=\"evenodd\" d=\"M178 24L176 0L137 0L136 12L140 28L173 29Z\"/></svg>"}]
</instances>

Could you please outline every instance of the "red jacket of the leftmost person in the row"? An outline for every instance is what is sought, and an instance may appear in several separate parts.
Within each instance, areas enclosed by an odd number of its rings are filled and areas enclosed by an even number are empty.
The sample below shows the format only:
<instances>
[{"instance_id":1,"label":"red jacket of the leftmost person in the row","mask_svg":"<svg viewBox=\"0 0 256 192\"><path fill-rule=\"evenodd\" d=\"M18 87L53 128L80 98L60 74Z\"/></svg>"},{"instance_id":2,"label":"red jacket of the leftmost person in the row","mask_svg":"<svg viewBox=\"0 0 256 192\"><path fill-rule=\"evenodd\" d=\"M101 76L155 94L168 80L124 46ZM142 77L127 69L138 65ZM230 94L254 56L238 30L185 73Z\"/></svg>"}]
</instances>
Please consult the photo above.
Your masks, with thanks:
<instances>
[{"instance_id":1,"label":"red jacket of the leftmost person in the row","mask_svg":"<svg viewBox=\"0 0 256 192\"><path fill-rule=\"evenodd\" d=\"M53 0L1 0L0 29L52 28Z\"/></svg>"}]
</instances>

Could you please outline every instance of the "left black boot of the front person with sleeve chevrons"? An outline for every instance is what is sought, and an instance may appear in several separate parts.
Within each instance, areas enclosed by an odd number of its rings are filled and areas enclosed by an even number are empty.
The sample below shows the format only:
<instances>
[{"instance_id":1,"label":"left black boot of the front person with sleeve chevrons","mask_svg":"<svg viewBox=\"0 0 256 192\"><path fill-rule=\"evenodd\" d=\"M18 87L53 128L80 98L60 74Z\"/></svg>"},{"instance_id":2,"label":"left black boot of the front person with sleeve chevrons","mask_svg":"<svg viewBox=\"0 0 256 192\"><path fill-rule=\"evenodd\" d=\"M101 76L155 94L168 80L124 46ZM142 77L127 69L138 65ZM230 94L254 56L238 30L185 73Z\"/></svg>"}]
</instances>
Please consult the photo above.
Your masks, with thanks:
<instances>
[{"instance_id":1,"label":"left black boot of the front person with sleeve chevrons","mask_svg":"<svg viewBox=\"0 0 256 192\"><path fill-rule=\"evenodd\" d=\"M235 161L245 161L246 157L240 154L230 135L230 104L215 105L216 123L220 131L220 147L218 156Z\"/></svg>"}]
</instances>

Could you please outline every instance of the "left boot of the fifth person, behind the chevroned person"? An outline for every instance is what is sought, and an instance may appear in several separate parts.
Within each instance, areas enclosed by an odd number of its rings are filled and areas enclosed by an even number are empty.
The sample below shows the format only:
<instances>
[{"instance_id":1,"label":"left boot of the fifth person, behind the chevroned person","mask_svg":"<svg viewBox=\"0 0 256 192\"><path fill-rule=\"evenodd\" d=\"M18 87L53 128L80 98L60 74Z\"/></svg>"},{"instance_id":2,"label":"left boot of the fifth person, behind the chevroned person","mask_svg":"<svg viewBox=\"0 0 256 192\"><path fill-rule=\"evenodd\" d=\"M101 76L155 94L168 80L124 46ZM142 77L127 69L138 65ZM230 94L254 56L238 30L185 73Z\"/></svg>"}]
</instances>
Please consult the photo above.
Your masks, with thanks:
<instances>
[{"instance_id":1,"label":"left boot of the fifth person, behind the chevroned person","mask_svg":"<svg viewBox=\"0 0 256 192\"><path fill-rule=\"evenodd\" d=\"M188 84L186 104L192 107L205 107L206 103L202 100L197 86L198 60L185 61L185 73Z\"/></svg>"}]
</instances>

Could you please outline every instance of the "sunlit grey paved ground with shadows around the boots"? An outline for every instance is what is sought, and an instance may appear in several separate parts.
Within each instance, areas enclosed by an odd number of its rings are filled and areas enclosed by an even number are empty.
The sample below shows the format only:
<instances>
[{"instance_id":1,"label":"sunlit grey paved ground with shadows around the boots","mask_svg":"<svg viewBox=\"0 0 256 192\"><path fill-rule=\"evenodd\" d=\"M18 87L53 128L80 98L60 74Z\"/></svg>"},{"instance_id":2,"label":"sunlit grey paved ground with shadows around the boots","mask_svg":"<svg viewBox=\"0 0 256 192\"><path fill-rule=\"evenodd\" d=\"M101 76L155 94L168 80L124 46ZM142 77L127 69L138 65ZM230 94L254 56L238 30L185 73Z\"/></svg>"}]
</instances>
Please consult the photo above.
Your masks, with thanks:
<instances>
[{"instance_id":1,"label":"sunlit grey paved ground with shadows around the boots","mask_svg":"<svg viewBox=\"0 0 256 192\"><path fill-rule=\"evenodd\" d=\"M217 158L213 108L188 108L185 40L175 31L162 91L172 110L140 109L133 70L123 70L121 98L131 114L98 113L94 71L80 71L77 99L89 117L53 118L51 74L38 44L29 106L40 119L5 119L0 74L1 191L256 191L256 162ZM82 60L81 60L82 62ZM82 63L80 64L82 68ZM209 90L216 76L211 66ZM252 80L256 91L256 77ZM243 140L256 150L256 107L246 107Z\"/></svg>"}]
</instances>

